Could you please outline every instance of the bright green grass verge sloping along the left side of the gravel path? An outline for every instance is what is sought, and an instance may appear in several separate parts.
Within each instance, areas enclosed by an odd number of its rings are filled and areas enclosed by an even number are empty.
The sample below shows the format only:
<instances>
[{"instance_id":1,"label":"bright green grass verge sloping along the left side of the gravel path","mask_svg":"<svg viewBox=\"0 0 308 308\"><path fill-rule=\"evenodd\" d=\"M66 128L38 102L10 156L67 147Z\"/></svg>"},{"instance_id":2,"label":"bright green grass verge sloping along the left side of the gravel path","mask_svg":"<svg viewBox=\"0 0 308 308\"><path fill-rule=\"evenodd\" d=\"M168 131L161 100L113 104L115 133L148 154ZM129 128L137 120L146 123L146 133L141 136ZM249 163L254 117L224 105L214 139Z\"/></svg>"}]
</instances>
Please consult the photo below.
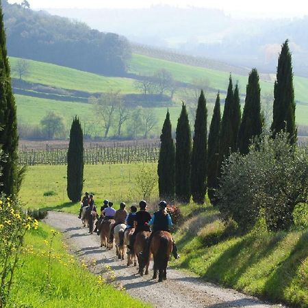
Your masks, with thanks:
<instances>
[{"instance_id":1,"label":"bright green grass verge sloping along the left side of the gravel path","mask_svg":"<svg viewBox=\"0 0 308 308\"><path fill-rule=\"evenodd\" d=\"M81 266L67 253L61 235L55 235L50 250L52 234L51 228L41 222L38 230L27 234L21 255L23 266L16 271L10 307L150 307L90 274L86 264Z\"/></svg>"}]
</instances>

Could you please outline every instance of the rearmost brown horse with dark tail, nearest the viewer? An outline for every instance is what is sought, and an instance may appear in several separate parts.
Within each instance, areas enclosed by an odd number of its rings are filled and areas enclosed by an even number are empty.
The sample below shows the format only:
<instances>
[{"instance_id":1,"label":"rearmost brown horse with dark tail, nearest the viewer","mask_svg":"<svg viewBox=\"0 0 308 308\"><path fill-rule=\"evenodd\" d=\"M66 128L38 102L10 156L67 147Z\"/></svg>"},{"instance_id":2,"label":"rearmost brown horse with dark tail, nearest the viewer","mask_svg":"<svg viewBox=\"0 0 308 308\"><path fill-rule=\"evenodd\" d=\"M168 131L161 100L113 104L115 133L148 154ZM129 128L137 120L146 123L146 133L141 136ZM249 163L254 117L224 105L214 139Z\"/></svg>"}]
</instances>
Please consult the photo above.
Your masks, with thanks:
<instances>
[{"instance_id":1,"label":"rearmost brown horse with dark tail, nearest the viewer","mask_svg":"<svg viewBox=\"0 0 308 308\"><path fill-rule=\"evenodd\" d=\"M172 236L167 231L157 231L153 235L150 246L150 253L154 259L153 279L157 279L157 271L159 272L158 281L162 282L167 279L167 265L172 252Z\"/></svg>"}]
</instances>

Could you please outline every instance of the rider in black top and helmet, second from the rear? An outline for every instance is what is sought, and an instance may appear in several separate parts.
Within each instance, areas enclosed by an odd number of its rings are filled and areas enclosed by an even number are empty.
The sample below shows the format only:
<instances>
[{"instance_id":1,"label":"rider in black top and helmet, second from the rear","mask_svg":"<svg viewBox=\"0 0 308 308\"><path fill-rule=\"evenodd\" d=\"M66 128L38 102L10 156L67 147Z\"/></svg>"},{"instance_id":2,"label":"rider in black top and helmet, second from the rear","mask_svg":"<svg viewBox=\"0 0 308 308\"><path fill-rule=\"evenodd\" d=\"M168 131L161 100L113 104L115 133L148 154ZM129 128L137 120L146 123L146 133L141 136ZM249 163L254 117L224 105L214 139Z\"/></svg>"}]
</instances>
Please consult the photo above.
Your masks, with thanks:
<instances>
[{"instance_id":1,"label":"rider in black top and helmet, second from the rear","mask_svg":"<svg viewBox=\"0 0 308 308\"><path fill-rule=\"evenodd\" d=\"M133 235L131 235L131 238L129 240L129 245L127 245L127 247L129 248L129 253L133 253L133 244L135 244L137 233L139 233L140 231L151 232L151 229L149 227L151 214L149 213L149 211L146 211L146 201L144 200L140 201L139 207L140 211L136 213L136 216L134 218L135 231L133 232Z\"/></svg>"}]
</instances>

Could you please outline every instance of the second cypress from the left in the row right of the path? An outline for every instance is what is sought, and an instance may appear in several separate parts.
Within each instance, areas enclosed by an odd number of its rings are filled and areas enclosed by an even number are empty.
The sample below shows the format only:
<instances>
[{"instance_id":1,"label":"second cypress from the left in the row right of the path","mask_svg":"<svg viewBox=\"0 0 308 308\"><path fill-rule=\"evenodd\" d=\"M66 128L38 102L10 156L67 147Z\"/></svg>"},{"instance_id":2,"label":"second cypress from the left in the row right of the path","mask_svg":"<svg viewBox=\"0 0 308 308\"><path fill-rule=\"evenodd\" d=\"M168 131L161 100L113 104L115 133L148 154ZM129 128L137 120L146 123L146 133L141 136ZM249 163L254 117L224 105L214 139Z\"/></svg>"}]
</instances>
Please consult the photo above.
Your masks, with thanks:
<instances>
[{"instance_id":1,"label":"second cypress from the left in the row right of the path","mask_svg":"<svg viewBox=\"0 0 308 308\"><path fill-rule=\"evenodd\" d=\"M175 147L175 198L181 203L190 202L190 158L192 137L186 106L182 105L177 120Z\"/></svg>"}]
</instances>

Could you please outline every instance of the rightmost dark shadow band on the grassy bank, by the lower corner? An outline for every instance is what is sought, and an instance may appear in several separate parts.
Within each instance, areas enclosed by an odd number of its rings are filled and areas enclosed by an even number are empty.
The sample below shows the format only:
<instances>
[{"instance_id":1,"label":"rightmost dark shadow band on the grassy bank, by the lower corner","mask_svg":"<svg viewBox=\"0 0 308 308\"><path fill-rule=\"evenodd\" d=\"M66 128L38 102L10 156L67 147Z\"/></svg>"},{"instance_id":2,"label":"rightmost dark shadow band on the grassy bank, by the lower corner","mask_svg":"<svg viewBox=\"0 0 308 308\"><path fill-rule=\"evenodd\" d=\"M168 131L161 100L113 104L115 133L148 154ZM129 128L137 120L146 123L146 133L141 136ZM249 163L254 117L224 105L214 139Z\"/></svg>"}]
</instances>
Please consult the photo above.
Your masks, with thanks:
<instances>
[{"instance_id":1,"label":"rightmost dark shadow band on the grassy bank, by the lower corner","mask_svg":"<svg viewBox=\"0 0 308 308\"><path fill-rule=\"evenodd\" d=\"M308 257L308 231L305 231L298 242L292 249L290 255L281 261L277 268L275 268L274 272L269 275L266 284L264 285L264 293L266 296L270 296L274 299L282 299L284 301L290 302L292 300L292 304L295 307L308 307L308 296L307 296L307 281L303 281L302 283L296 281L298 284L294 285L294 290L298 296L295 296L294 291L293 294L290 294L290 298L285 298L285 290L292 284L294 277L296 277L298 268ZM303 280L305 277L303 277ZM305 293L305 300L301 298L299 295L299 291Z\"/></svg>"}]
</instances>

